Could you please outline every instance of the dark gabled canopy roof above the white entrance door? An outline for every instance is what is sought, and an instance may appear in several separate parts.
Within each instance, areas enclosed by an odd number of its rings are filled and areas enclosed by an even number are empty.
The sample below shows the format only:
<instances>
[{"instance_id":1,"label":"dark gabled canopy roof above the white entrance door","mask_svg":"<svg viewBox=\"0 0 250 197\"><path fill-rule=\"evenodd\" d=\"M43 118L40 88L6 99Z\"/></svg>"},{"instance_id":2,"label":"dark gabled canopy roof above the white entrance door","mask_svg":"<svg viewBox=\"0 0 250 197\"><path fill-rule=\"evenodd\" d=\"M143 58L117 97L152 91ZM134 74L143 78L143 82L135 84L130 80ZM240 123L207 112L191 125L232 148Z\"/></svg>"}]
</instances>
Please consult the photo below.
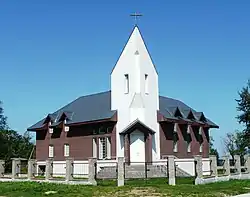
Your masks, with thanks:
<instances>
[{"instance_id":1,"label":"dark gabled canopy roof above the white entrance door","mask_svg":"<svg viewBox=\"0 0 250 197\"><path fill-rule=\"evenodd\" d=\"M147 125L142 123L139 119L136 119L132 123L130 123L122 132L120 132L120 135L126 135L132 133L135 129L140 130L144 134L155 134L155 131L149 128Z\"/></svg>"}]
</instances>

